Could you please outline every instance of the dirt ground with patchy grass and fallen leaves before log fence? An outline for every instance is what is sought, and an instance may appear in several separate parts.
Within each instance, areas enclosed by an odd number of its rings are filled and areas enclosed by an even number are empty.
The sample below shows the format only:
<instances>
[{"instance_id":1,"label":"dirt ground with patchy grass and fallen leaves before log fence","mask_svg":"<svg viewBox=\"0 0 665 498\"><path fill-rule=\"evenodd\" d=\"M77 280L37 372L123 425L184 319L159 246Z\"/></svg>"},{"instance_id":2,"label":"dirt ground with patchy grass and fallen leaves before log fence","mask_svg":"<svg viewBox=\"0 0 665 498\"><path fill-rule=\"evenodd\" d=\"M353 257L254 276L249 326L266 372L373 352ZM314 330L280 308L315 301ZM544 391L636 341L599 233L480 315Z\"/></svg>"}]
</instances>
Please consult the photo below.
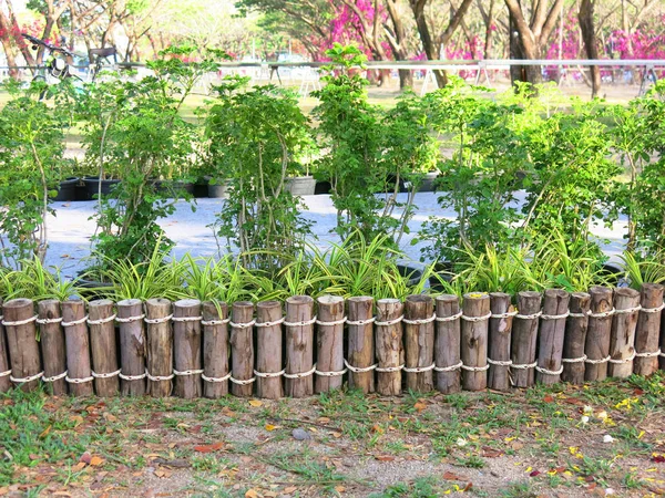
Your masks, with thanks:
<instances>
[{"instance_id":1,"label":"dirt ground with patchy grass and fallen leaves before log fence","mask_svg":"<svg viewBox=\"0 0 665 498\"><path fill-rule=\"evenodd\" d=\"M14 392L0 398L0 496L659 496L664 396L665 372L448 396Z\"/></svg>"}]
</instances>

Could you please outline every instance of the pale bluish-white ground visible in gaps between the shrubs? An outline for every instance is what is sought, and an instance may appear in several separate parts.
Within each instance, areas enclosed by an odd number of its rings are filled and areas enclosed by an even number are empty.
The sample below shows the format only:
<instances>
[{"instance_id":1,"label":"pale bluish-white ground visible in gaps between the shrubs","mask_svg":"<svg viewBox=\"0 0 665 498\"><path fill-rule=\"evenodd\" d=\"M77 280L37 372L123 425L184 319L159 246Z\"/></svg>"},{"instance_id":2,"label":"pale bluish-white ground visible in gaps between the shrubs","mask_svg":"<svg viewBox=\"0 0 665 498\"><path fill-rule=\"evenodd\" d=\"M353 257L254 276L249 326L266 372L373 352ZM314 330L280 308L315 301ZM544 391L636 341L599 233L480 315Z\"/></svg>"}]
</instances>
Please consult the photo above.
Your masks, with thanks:
<instances>
[{"instance_id":1,"label":"pale bluish-white ground visible in gaps between the shrubs","mask_svg":"<svg viewBox=\"0 0 665 498\"><path fill-rule=\"evenodd\" d=\"M417 236L421 225L429 217L453 218L452 210L442 209L437 198L443 194L419 193L416 196L418 210L409 222L410 234L405 235L401 248L409 258L418 260L422 243L412 246L411 240ZM406 197L406 194L400 197ZM518 193L515 206L522 204L523 193ZM405 200L401 198L400 200ZM331 232L336 224L336 210L330 196L306 196L304 201L307 210L304 211L306 219L313 221L313 232L317 238L316 243L326 247L331 242L339 241L336 234ZM174 253L182 257L186 252L194 256L215 256L219 250L225 250L226 240L219 239L218 247L211 225L215 220L215 214L224 208L222 199L196 199L196 210L185 201L177 203L176 211L160 221L166 235L176 242ZM54 203L55 216L50 217L49 224L49 252L47 263L60 267L63 276L72 277L79 270L86 267L85 258L90 255L90 237L95 231L95 222L92 216L95 212L95 201ZM602 226L593 228L593 234L602 239L608 240L604 245L610 256L616 256L624 246L623 234L626 231L625 219L620 219L611 229Z\"/></svg>"}]
</instances>

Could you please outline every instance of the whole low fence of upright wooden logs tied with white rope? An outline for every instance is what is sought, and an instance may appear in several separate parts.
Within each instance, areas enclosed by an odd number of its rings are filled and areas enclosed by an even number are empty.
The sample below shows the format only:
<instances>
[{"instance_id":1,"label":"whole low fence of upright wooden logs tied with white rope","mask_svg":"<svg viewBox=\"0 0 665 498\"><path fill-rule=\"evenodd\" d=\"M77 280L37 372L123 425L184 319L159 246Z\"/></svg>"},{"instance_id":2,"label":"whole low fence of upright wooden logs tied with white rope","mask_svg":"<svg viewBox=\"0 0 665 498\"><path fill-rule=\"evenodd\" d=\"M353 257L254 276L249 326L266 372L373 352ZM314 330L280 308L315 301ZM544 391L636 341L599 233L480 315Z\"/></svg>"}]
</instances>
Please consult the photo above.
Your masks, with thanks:
<instances>
[{"instance_id":1,"label":"whole low fence of upright wooden logs tied with white rope","mask_svg":"<svg viewBox=\"0 0 665 498\"><path fill-rule=\"evenodd\" d=\"M0 392L278 400L345 383L395 396L651 375L664 357L664 290L296 295L284 305L13 299L1 304Z\"/></svg>"}]
</instances>

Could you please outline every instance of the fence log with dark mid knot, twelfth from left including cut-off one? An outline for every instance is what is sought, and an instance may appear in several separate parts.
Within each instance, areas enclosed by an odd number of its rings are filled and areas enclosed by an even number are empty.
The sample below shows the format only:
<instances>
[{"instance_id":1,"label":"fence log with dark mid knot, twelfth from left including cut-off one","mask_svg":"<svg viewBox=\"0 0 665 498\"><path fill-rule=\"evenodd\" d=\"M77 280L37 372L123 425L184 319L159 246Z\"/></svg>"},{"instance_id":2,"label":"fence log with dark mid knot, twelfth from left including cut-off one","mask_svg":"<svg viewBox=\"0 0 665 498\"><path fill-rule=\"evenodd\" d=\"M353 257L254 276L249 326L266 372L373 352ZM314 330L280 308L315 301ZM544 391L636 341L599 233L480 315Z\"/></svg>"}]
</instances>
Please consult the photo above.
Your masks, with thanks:
<instances>
[{"instance_id":1,"label":"fence log with dark mid knot, twelfth from left including cut-off one","mask_svg":"<svg viewBox=\"0 0 665 498\"><path fill-rule=\"evenodd\" d=\"M286 395L314 394L314 299L293 295L286 300Z\"/></svg>"}]
</instances>

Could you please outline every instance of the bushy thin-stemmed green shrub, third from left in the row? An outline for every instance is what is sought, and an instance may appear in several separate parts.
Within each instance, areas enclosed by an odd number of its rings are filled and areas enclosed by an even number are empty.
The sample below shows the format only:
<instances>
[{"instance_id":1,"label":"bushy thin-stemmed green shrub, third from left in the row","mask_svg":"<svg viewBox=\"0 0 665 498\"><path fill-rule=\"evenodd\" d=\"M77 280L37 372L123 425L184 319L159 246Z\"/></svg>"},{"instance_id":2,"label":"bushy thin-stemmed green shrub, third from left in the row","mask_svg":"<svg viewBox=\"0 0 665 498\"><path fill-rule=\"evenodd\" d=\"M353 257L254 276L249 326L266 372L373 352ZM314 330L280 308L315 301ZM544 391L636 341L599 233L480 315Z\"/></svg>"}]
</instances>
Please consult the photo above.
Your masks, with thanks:
<instances>
[{"instance_id":1,"label":"bushy thin-stemmed green shrub, third from left in the row","mask_svg":"<svg viewBox=\"0 0 665 498\"><path fill-rule=\"evenodd\" d=\"M268 256L293 255L309 232L301 201L285 188L297 159L311 148L295 95L275 85L245 90L227 79L206 118L208 157L225 165L229 199L215 229L237 247L246 267L279 268Z\"/></svg>"}]
</instances>

